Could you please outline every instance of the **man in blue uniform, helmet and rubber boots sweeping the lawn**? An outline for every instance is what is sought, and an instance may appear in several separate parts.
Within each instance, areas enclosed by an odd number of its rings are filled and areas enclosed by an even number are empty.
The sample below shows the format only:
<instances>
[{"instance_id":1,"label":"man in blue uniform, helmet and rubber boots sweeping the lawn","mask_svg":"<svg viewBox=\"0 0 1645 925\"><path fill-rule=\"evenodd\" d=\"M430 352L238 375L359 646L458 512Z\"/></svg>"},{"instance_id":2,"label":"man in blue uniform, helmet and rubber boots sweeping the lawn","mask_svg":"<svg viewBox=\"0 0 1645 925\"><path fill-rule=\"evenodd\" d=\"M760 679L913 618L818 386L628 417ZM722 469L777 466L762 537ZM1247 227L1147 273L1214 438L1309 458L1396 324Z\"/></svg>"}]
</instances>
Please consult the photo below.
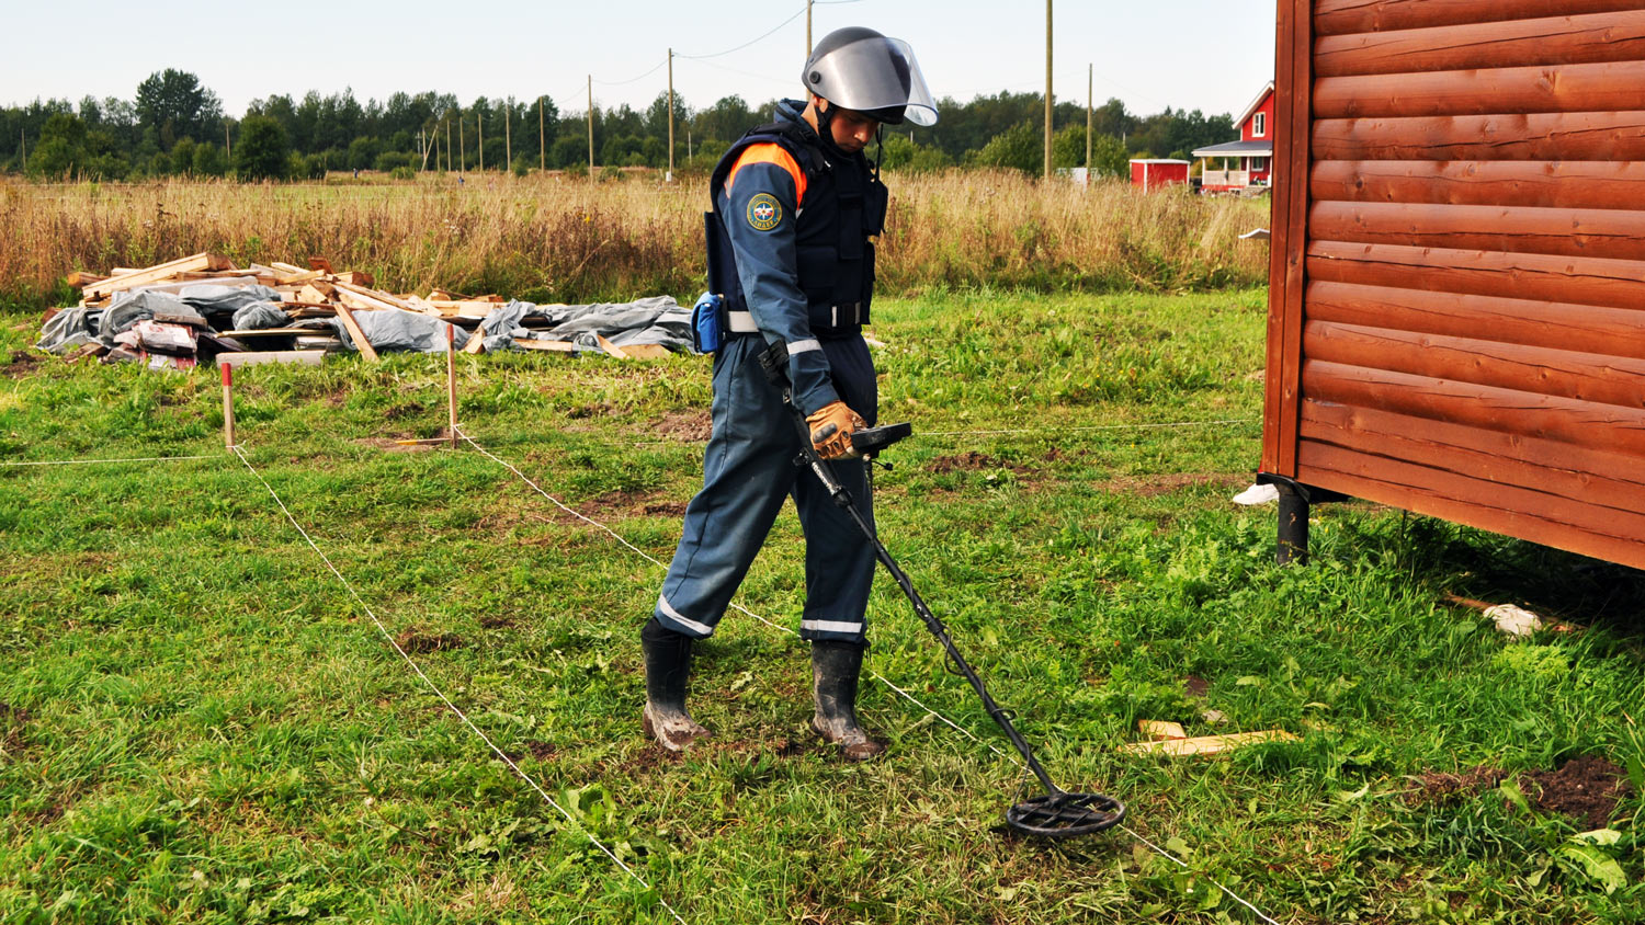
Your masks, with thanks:
<instances>
[{"instance_id":1,"label":"man in blue uniform, helmet and rubber boots sweeping the lawn","mask_svg":"<svg viewBox=\"0 0 1645 925\"><path fill-rule=\"evenodd\" d=\"M724 329L714 435L702 491L686 508L656 611L640 631L645 731L668 751L707 734L686 711L691 644L714 633L790 495L806 534L799 636L811 641L811 728L849 761L885 751L855 713L873 549L822 485L795 467L801 437L758 357L786 345L809 439L872 522L867 463L850 434L878 412L862 325L887 196L862 150L882 123L934 125L936 104L908 43L865 28L824 36L801 82L806 102L783 100L776 122L732 145L709 182L709 286L722 299Z\"/></svg>"}]
</instances>

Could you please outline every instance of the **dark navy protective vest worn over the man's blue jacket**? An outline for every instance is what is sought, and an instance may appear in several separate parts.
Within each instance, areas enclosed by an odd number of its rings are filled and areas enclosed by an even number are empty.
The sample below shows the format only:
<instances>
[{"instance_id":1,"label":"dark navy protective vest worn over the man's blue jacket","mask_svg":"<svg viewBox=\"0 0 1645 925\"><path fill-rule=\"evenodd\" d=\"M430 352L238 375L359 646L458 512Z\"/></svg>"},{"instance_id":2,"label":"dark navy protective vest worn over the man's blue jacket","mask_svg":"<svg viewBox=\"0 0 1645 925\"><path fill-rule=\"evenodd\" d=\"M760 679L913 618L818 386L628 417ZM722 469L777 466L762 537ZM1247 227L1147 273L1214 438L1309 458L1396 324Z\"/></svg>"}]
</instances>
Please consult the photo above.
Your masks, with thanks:
<instances>
[{"instance_id":1,"label":"dark navy protective vest worn over the man's blue jacket","mask_svg":"<svg viewBox=\"0 0 1645 925\"><path fill-rule=\"evenodd\" d=\"M822 151L806 128L776 122L750 130L725 151L709 179L714 210L704 215L709 245L709 289L725 297L725 309L748 311L737 276L737 258L721 215L719 194L737 158L750 145L776 143L806 174L806 196L795 215L799 291L811 330L846 334L869 324L873 299L873 242L885 227L885 184L859 156Z\"/></svg>"}]
</instances>

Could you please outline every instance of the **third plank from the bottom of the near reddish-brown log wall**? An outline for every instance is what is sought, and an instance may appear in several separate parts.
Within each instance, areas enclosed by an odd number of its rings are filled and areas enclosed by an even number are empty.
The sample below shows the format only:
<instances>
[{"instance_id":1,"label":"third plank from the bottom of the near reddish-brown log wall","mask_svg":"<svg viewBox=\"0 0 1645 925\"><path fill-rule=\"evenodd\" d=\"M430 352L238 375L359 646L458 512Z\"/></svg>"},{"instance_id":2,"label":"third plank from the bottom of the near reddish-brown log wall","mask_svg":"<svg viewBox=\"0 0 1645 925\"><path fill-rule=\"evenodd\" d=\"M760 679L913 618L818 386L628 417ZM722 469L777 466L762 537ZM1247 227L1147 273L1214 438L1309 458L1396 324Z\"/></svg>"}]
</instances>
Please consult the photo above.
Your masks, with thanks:
<instances>
[{"instance_id":1,"label":"third plank from the bottom of the near reddish-brown log wall","mask_svg":"<svg viewBox=\"0 0 1645 925\"><path fill-rule=\"evenodd\" d=\"M1594 404L1390 370L1308 360L1303 389L1314 401L1375 407L1485 430L1645 457L1645 409Z\"/></svg>"}]
</instances>

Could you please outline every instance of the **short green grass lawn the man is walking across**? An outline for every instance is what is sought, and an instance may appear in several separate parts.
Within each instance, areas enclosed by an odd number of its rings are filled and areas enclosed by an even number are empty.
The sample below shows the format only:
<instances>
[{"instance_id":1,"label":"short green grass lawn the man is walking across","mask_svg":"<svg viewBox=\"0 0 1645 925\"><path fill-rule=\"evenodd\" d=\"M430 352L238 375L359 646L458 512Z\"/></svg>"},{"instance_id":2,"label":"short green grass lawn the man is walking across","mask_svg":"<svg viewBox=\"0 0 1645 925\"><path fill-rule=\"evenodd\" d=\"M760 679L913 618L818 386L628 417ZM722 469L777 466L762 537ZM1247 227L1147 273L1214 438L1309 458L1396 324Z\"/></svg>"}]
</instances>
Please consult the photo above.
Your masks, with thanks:
<instances>
[{"instance_id":1,"label":"short green grass lawn the man is walking across","mask_svg":"<svg viewBox=\"0 0 1645 925\"><path fill-rule=\"evenodd\" d=\"M873 327L882 419L924 432L878 473L883 537L1053 777L1127 800L1186 871L1124 833L1002 838L1031 780L875 682L890 757L839 764L804 729L804 651L735 613L694 682L716 739L660 757L635 636L661 570L479 453L383 449L444 424L443 360L237 375L253 465L568 825L222 453L211 373L13 358L0 458L222 458L0 468L0 920L670 920L658 895L693 925L1255 920L1211 881L1286 923L1640 920L1638 797L1601 846L1512 784L1406 798L1589 752L1645 777L1638 575L1360 503L1275 567L1272 508L1227 501L1263 304L938 294ZM0 360L33 332L0 312ZM459 391L479 442L666 560L706 360L462 357ZM1132 427L1179 421L1234 422ZM1028 432L943 435L966 429ZM801 549L785 513L740 601L795 624ZM1582 629L1510 644L1448 591ZM883 577L870 621L872 669L1007 749ZM1138 718L1300 739L1117 754Z\"/></svg>"}]
</instances>

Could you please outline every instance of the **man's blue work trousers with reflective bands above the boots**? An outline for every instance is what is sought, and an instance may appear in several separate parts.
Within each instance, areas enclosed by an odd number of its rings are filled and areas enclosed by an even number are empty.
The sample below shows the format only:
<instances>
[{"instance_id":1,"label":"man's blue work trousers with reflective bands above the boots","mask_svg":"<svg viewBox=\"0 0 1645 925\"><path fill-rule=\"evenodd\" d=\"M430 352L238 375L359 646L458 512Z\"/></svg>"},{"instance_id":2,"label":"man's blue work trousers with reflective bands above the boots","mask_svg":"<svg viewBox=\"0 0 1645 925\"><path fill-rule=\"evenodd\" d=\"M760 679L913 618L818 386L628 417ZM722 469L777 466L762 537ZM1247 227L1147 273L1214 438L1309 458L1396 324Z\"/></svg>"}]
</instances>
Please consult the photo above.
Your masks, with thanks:
<instances>
[{"instance_id":1,"label":"man's blue work trousers with reflective bands above the boots","mask_svg":"<svg viewBox=\"0 0 1645 925\"><path fill-rule=\"evenodd\" d=\"M870 426L880 389L860 335L821 340L841 399ZM714 435L702 458L702 491L686 506L684 536L656 600L663 626L702 639L714 633L737 585L793 496L806 536L804 639L862 642L873 547L809 468L795 465L799 429L760 370L760 335L732 337L714 355ZM869 467L834 460L834 476L873 524Z\"/></svg>"}]
</instances>

